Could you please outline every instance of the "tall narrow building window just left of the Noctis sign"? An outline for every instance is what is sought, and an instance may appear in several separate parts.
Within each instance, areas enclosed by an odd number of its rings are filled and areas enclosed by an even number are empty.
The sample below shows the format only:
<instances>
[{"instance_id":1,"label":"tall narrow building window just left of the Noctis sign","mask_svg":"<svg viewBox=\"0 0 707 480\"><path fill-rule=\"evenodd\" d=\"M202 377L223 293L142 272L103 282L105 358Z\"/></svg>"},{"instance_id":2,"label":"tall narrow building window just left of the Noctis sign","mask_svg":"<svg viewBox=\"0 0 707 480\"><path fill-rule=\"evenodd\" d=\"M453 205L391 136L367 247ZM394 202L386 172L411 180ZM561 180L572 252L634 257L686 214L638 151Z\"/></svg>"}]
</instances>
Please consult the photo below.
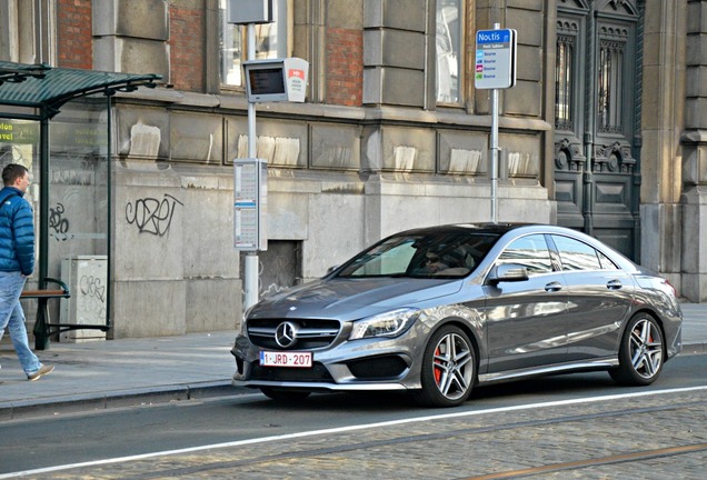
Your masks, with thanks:
<instances>
[{"instance_id":1,"label":"tall narrow building window just left of the Noctis sign","mask_svg":"<svg viewBox=\"0 0 707 480\"><path fill-rule=\"evenodd\" d=\"M461 101L461 0L437 0L437 102Z\"/></svg>"}]
</instances>

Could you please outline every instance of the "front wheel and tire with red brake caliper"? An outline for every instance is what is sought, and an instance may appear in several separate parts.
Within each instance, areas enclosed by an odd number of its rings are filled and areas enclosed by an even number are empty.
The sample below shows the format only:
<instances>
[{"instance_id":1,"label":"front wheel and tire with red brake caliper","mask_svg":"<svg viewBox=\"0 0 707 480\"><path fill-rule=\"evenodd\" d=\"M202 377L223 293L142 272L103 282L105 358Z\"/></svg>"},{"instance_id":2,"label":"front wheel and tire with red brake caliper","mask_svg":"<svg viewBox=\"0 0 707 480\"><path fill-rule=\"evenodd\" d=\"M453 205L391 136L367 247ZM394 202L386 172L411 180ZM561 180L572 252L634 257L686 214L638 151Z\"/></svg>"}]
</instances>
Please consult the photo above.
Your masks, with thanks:
<instances>
[{"instance_id":1,"label":"front wheel and tire with red brake caliper","mask_svg":"<svg viewBox=\"0 0 707 480\"><path fill-rule=\"evenodd\" d=\"M476 351L458 327L445 326L430 338L422 356L422 389L418 403L427 407L457 407L471 394L476 382Z\"/></svg>"}]
</instances>

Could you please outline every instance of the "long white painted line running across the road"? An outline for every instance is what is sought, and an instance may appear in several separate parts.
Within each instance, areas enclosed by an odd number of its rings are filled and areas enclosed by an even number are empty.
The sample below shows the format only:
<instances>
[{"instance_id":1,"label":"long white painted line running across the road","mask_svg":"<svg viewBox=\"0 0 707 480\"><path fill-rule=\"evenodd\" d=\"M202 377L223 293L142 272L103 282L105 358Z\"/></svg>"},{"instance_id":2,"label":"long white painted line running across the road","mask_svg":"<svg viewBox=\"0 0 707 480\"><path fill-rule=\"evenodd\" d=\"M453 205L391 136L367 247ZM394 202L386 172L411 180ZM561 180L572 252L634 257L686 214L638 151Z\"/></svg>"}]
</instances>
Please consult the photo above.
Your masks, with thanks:
<instances>
[{"instance_id":1,"label":"long white painted line running across the road","mask_svg":"<svg viewBox=\"0 0 707 480\"><path fill-rule=\"evenodd\" d=\"M487 410L471 410L471 411L464 411L464 412L456 412L456 413L440 413L440 414L434 414L434 416L416 417L410 419L389 420L384 422L357 424L357 426L348 426L348 427L337 427L337 428L323 429L323 430L310 430L310 431L298 432L298 433L286 433L286 434L272 436L272 437L261 437L257 439L236 440L236 441L225 442L225 443L213 443L210 446L189 447L189 448L177 449L177 450L165 450L165 451L140 453L136 456L119 457L119 458L112 458L112 459L93 460L93 461L80 462L80 463L69 463L63 466L46 467L46 468L40 468L34 470L2 473L0 474L0 479L23 477L23 476L39 474L39 473L51 473L56 471L72 470L72 469L87 468L87 467L98 467L98 466L104 466L110 463L130 462L136 460L156 458L156 457L193 453L193 452L199 452L203 450L216 450L216 449L223 449L223 448L250 446L256 443L267 443L267 442L280 441L280 440L291 440L291 439L299 439L299 438L306 438L306 437L315 437L319 434L345 433L345 432L350 432L356 430L401 426L406 423L420 423L420 422L426 422L431 420L476 417L476 416L489 414L489 413L565 407L565 406L580 404L580 403L598 403L604 401L623 400L623 399L639 398L639 397L654 397L654 396L671 394L671 393L689 393L689 392L703 391L703 390L707 390L707 386L668 389L668 390L655 390L655 391L646 391L646 392L637 392L637 393L620 393L620 394L613 394L613 396L606 396L606 397L558 400L558 401L544 402L544 403L529 403L529 404L512 406L512 407L498 407L498 408L492 408Z\"/></svg>"}]
</instances>

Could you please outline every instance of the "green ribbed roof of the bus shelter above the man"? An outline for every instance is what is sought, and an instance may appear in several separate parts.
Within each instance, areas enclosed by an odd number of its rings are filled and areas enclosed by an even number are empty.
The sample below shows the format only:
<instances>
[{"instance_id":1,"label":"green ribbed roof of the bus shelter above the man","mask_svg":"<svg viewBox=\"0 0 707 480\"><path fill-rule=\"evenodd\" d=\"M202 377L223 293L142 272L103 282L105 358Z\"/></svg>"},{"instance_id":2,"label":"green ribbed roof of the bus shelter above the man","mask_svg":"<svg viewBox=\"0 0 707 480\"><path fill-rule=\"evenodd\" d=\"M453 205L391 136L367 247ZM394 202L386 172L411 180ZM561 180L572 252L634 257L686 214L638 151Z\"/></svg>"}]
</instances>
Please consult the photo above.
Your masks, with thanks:
<instances>
[{"instance_id":1,"label":"green ribbed roof of the bus shelter above the man","mask_svg":"<svg viewBox=\"0 0 707 480\"><path fill-rule=\"evenodd\" d=\"M113 73L0 61L0 113L2 106L14 106L39 109L41 116L51 118L76 98L101 92L111 96L140 86L153 88L161 78L156 73Z\"/></svg>"}]
</instances>

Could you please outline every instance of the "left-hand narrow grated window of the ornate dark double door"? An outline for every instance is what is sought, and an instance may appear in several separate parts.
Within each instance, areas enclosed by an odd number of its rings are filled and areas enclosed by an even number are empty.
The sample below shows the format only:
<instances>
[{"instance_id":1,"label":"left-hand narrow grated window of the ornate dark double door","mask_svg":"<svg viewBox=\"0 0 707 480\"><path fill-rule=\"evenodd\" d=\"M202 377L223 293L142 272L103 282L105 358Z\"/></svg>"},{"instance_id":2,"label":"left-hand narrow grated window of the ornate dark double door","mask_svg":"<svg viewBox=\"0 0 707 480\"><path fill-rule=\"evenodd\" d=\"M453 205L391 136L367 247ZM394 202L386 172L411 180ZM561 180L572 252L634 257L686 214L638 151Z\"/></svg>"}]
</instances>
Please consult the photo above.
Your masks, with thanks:
<instances>
[{"instance_id":1,"label":"left-hand narrow grated window of the ornate dark double door","mask_svg":"<svg viewBox=\"0 0 707 480\"><path fill-rule=\"evenodd\" d=\"M557 60L555 63L555 128L572 130L575 100L575 56L576 37L557 37Z\"/></svg>"}]
</instances>

